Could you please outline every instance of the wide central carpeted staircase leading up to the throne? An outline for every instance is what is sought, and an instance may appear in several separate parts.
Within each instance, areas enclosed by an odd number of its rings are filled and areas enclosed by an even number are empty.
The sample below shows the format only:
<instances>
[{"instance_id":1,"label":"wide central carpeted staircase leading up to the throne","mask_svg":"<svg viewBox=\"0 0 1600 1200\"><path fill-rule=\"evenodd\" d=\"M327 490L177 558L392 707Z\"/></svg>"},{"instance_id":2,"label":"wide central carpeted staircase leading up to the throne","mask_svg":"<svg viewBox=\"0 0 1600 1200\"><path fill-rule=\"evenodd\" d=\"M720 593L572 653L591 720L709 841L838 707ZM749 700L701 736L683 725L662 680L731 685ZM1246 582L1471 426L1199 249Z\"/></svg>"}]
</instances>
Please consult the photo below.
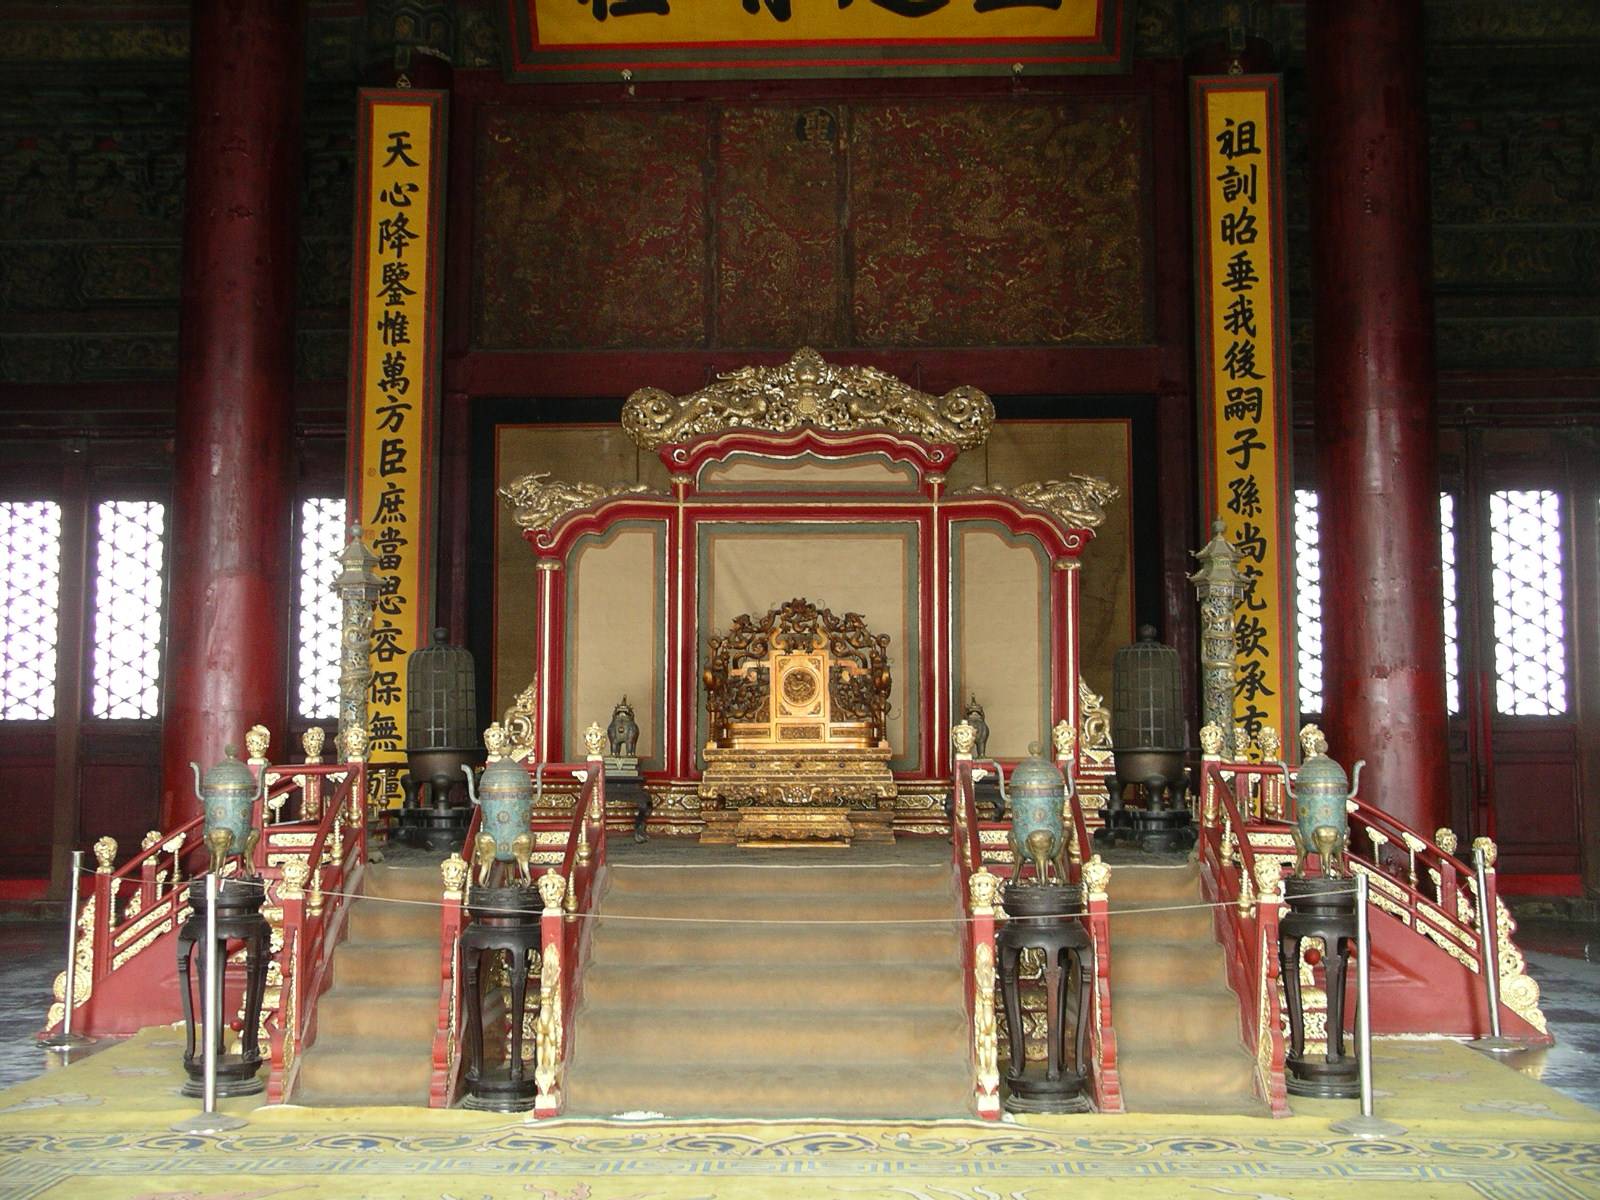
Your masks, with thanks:
<instances>
[{"instance_id":1,"label":"wide central carpeted staircase leading up to the throne","mask_svg":"<svg viewBox=\"0 0 1600 1200\"><path fill-rule=\"evenodd\" d=\"M566 1114L970 1115L950 867L760 858L611 866Z\"/></svg>"}]
</instances>

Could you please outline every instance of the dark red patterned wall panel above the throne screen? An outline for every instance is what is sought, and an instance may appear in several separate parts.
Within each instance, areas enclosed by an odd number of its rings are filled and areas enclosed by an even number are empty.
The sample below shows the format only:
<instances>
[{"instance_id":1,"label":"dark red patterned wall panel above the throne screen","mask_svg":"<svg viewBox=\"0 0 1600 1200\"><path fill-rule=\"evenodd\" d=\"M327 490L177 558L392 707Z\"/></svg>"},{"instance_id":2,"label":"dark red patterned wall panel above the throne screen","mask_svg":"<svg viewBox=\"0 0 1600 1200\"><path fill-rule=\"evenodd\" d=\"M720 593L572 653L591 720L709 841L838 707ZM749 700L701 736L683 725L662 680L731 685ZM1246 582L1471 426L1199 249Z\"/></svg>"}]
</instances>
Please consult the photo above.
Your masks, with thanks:
<instances>
[{"instance_id":1,"label":"dark red patterned wall panel above the throne screen","mask_svg":"<svg viewBox=\"0 0 1600 1200\"><path fill-rule=\"evenodd\" d=\"M496 107L493 349L1150 338L1139 98Z\"/></svg>"}]
</instances>

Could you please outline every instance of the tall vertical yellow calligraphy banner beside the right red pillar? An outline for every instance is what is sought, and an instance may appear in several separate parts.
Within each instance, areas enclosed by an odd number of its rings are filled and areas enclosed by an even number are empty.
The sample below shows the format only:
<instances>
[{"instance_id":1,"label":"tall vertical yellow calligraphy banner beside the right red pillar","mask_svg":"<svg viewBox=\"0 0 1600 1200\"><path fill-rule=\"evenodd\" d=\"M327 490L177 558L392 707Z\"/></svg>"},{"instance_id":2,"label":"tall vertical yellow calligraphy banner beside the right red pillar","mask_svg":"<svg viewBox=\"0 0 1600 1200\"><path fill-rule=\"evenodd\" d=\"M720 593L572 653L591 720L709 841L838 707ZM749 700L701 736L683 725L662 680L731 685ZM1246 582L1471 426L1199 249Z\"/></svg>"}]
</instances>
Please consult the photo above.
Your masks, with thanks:
<instances>
[{"instance_id":1,"label":"tall vertical yellow calligraphy banner beside the right red pillar","mask_svg":"<svg viewBox=\"0 0 1600 1200\"><path fill-rule=\"evenodd\" d=\"M1293 733L1296 718L1278 88L1264 75L1192 80L1203 506L1246 579L1234 718L1251 736Z\"/></svg>"}]
</instances>

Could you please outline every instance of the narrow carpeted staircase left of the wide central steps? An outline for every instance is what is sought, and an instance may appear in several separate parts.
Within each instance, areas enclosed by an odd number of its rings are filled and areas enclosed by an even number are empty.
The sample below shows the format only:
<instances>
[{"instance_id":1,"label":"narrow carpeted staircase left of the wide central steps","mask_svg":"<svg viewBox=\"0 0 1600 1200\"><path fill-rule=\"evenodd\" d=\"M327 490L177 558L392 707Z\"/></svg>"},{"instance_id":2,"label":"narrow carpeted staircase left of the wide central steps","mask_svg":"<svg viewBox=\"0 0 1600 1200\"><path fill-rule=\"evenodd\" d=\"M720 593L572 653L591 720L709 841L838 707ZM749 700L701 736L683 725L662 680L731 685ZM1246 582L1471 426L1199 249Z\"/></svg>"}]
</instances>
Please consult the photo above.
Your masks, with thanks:
<instances>
[{"instance_id":1,"label":"narrow carpeted staircase left of the wide central steps","mask_svg":"<svg viewBox=\"0 0 1600 1200\"><path fill-rule=\"evenodd\" d=\"M438 864L366 869L365 896L317 1003L317 1040L301 1061L293 1104L427 1106L438 1021ZM386 904L384 901L426 901Z\"/></svg>"}]
</instances>

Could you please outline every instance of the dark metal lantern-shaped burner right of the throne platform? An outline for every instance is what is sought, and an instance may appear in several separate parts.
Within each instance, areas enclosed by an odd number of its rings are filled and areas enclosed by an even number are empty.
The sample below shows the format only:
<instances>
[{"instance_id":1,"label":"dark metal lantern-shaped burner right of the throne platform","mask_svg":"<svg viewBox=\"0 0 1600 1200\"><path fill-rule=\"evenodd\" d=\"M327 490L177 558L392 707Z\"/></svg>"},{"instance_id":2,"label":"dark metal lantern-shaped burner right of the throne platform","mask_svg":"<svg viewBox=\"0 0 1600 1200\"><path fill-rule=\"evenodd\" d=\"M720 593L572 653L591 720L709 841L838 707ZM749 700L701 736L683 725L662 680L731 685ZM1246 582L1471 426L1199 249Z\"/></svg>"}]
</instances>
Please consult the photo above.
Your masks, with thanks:
<instances>
[{"instance_id":1,"label":"dark metal lantern-shaped burner right of the throne platform","mask_svg":"<svg viewBox=\"0 0 1600 1200\"><path fill-rule=\"evenodd\" d=\"M1106 779L1104 842L1136 842L1146 850L1194 845L1184 771L1182 675L1178 651L1155 638L1154 626L1112 658L1110 742L1115 774ZM1123 806L1126 789L1144 792L1144 808Z\"/></svg>"}]
</instances>

